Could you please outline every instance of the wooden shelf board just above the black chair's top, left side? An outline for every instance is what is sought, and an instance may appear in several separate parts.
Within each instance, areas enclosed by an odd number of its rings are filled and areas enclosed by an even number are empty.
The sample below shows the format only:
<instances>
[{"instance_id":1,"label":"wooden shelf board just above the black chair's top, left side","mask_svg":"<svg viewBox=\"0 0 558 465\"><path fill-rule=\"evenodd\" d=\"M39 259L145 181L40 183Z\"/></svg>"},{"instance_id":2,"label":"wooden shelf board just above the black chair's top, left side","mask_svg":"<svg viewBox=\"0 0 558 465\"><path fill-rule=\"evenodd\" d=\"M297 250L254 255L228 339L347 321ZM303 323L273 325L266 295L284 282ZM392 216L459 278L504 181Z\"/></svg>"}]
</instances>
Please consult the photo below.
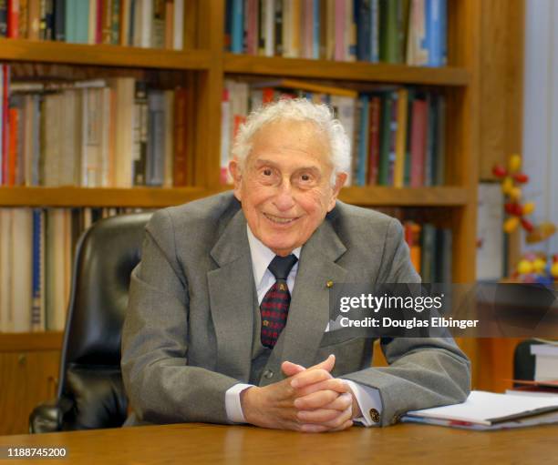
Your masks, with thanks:
<instances>
[{"instance_id":1,"label":"wooden shelf board just above the black chair's top, left side","mask_svg":"<svg viewBox=\"0 0 558 465\"><path fill-rule=\"evenodd\" d=\"M202 187L0 187L0 206L168 207L213 193Z\"/></svg>"}]
</instances>

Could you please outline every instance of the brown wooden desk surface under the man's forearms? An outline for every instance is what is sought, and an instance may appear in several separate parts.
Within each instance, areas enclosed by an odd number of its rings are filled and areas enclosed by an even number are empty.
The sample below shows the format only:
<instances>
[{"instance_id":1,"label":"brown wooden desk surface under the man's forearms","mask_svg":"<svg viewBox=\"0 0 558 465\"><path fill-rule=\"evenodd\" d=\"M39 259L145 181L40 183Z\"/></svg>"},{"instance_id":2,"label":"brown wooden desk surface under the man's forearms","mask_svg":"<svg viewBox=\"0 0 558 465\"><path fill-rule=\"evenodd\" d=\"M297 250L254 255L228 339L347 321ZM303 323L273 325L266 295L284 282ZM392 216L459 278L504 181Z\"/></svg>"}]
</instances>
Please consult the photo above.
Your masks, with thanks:
<instances>
[{"instance_id":1,"label":"brown wooden desk surface under the man's forearms","mask_svg":"<svg viewBox=\"0 0 558 465\"><path fill-rule=\"evenodd\" d=\"M328 434L247 426L177 424L0 437L0 448L66 447L65 460L38 463L242 463L429 465L556 463L558 426L477 432L400 424ZM3 460L0 460L3 461ZM30 460L26 460L29 463ZM5 460L3 463L23 463Z\"/></svg>"}]
</instances>

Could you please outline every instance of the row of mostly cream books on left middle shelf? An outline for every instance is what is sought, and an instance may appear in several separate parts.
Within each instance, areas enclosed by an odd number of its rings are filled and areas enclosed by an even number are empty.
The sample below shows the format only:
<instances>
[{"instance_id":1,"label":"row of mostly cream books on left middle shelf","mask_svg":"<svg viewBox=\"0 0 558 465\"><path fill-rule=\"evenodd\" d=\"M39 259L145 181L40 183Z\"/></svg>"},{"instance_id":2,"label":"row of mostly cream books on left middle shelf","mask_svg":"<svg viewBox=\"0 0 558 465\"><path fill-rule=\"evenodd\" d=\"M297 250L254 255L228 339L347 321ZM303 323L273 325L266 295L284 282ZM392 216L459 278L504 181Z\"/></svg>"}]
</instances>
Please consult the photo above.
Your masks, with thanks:
<instances>
[{"instance_id":1,"label":"row of mostly cream books on left middle shelf","mask_svg":"<svg viewBox=\"0 0 558 465\"><path fill-rule=\"evenodd\" d=\"M0 69L1 185L186 185L185 89L133 77L9 83Z\"/></svg>"}]
</instances>

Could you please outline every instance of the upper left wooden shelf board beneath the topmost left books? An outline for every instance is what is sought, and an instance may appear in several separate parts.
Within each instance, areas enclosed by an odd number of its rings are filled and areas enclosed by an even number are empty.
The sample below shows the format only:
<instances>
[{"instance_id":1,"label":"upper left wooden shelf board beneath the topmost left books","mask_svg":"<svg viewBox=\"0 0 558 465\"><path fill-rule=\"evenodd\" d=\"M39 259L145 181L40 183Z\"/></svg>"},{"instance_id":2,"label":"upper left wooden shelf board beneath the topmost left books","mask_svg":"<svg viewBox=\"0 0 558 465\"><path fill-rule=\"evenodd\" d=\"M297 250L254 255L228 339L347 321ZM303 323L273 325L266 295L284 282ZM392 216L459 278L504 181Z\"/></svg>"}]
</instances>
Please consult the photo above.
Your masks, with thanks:
<instances>
[{"instance_id":1,"label":"upper left wooden shelf board beneath the topmost left books","mask_svg":"<svg viewBox=\"0 0 558 465\"><path fill-rule=\"evenodd\" d=\"M0 60L79 66L205 70L210 67L211 54L200 49L184 52L119 45L0 39Z\"/></svg>"}]
</instances>

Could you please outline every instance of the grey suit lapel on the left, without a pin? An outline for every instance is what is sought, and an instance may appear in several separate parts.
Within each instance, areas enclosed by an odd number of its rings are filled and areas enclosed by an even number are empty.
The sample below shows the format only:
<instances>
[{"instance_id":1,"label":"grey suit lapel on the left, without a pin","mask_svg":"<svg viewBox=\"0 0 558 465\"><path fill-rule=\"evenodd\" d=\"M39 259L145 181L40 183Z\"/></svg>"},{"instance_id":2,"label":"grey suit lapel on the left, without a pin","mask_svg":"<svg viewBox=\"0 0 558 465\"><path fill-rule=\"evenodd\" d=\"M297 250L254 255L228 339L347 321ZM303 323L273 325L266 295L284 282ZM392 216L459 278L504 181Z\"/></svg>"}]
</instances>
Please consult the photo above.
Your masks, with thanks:
<instances>
[{"instance_id":1,"label":"grey suit lapel on the left, without a pin","mask_svg":"<svg viewBox=\"0 0 558 465\"><path fill-rule=\"evenodd\" d=\"M207 274L217 338L216 371L247 382L253 336L253 269L246 220L239 210L211 252L220 268Z\"/></svg>"}]
</instances>

